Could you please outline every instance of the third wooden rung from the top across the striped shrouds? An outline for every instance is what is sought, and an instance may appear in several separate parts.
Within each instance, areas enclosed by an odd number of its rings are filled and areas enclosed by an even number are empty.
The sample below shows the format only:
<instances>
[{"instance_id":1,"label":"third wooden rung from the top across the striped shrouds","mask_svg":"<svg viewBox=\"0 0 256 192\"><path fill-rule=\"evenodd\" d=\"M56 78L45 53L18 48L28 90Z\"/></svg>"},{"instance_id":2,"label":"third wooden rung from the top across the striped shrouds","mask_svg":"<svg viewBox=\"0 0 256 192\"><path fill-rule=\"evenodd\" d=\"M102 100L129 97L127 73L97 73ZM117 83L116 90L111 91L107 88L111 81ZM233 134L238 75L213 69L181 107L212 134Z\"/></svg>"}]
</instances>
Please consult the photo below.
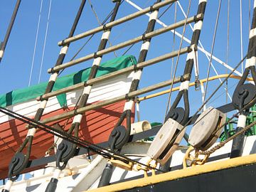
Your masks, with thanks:
<instances>
[{"instance_id":1,"label":"third wooden rung from the top across the striped shrouds","mask_svg":"<svg viewBox=\"0 0 256 192\"><path fill-rule=\"evenodd\" d=\"M186 47L186 48L182 48L181 51L180 51L180 55L184 54L184 53L188 53L189 51L191 51L191 48L190 47ZM137 68L144 68L144 67L147 67L149 65L153 65L153 64L156 64L156 63L159 63L163 60L167 60L169 58L174 58L178 55L178 50L175 50L171 53L167 53L165 55L161 55L159 57L156 57L156 58L153 58L151 60L146 60L142 63L138 63L136 65ZM86 84L87 85L93 85L97 82L102 82L103 80L108 80L110 78L114 78L114 77L117 77L118 75L122 75L124 73L129 73L129 72L132 72L134 70L134 66L130 66L128 68L124 68L122 70L117 70L117 71L114 71L112 73L109 73L107 75L102 75L98 78L94 78L92 80L87 80ZM73 91L73 90L78 90L82 87L85 86L85 82L80 82L78 84L75 84L75 85L72 85L70 87L65 87L63 89L60 89L60 90L56 90L56 91L53 91L53 92L49 92L45 95L42 95L41 97L37 97L36 100L40 100L40 99L48 99L50 97L53 97L53 96L56 96L56 95L60 95L60 94L63 94L65 92L70 92L70 91Z\"/></svg>"}]
</instances>

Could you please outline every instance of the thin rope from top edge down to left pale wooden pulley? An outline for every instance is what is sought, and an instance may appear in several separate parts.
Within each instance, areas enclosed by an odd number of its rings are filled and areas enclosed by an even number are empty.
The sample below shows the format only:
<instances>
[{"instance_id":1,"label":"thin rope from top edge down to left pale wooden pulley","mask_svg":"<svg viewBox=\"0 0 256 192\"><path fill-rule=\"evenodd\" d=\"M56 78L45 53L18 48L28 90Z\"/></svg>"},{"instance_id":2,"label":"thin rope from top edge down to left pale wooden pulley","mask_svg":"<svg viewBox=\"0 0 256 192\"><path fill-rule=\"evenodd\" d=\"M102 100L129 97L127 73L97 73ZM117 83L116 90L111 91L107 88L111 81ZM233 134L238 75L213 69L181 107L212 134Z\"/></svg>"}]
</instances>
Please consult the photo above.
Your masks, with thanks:
<instances>
[{"instance_id":1,"label":"thin rope from top edge down to left pale wooden pulley","mask_svg":"<svg viewBox=\"0 0 256 192\"><path fill-rule=\"evenodd\" d=\"M179 60L180 53L181 53L181 46L182 46L182 43L183 43L183 37L184 37L185 31L186 31L186 24L187 24L187 21L188 21L188 14L189 14L190 8L191 8L191 0L189 0L189 2L188 2L188 11L187 11L187 14L186 14L186 21L185 21L184 26L183 26L181 42L179 44L177 60L176 60L175 68L174 68L174 75L173 75L173 78L172 78L173 82L174 82L174 78L175 78L177 67L178 67L178 60ZM172 90L173 87L174 87L174 83L171 83L171 90ZM169 92L169 99L168 99L168 102L167 102L167 105L166 105L166 112L165 112L165 115L164 115L164 119L165 119L166 114L168 112L168 108L169 108L168 106L169 106L169 103L170 103L171 92L172 91Z\"/></svg>"}]
</instances>

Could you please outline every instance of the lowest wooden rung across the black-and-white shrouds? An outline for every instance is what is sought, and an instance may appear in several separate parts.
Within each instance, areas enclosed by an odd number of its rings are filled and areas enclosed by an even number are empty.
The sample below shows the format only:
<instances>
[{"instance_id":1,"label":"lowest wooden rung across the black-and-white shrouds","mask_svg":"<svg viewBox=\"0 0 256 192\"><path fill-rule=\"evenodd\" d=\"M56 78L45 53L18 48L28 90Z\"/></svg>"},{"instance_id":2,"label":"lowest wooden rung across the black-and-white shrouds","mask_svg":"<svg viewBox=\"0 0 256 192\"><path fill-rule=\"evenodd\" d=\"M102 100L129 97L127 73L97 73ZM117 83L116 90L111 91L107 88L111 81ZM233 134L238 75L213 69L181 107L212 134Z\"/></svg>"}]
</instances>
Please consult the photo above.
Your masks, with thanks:
<instances>
[{"instance_id":1,"label":"lowest wooden rung across the black-and-white shrouds","mask_svg":"<svg viewBox=\"0 0 256 192\"><path fill-rule=\"evenodd\" d=\"M190 78L189 76L190 75L183 75L183 80L187 80L188 78ZM181 81L181 77L178 77L178 78L174 79L173 83L176 84L177 82L180 82L180 81ZM47 119L43 119L41 122L46 124L46 123L49 123L49 122L58 121L60 119L65 119L65 118L73 117L76 114L82 114L84 112L87 112L87 111L90 111L90 110L95 110L95 109L97 109L99 107L103 107L105 105L110 105L110 104L112 104L114 102L119 102L121 100L126 100L126 99L129 99L129 98L134 98L134 97L136 97L138 95L142 95L142 94L144 94L146 92L151 92L151 91L160 89L162 87L169 86L171 84L172 84L171 80L167 80L167 81L164 81L164 82L159 82L158 84L151 85L149 87L144 87L141 90L136 90L134 92L130 92L127 95L122 95L122 96L119 96L119 97L115 97L112 100L105 100L105 101L102 101L102 102L98 102L96 104L88 105L86 107L81 107L78 110L73 110L73 111L70 111L70 112L65 112L63 114L59 114L59 115L56 115L54 117L49 117Z\"/></svg>"}]
</instances>

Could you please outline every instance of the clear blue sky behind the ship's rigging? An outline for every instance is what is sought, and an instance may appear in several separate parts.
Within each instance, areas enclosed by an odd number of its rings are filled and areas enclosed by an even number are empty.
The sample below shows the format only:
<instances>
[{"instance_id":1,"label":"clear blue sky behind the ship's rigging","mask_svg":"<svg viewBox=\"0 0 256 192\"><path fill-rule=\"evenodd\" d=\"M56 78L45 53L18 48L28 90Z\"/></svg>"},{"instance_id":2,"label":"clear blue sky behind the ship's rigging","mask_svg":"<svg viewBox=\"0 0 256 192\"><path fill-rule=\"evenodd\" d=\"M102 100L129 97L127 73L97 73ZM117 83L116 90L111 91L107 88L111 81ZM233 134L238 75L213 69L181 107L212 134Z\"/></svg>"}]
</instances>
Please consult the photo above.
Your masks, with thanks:
<instances>
[{"instance_id":1,"label":"clear blue sky behind the ship's rigging","mask_svg":"<svg viewBox=\"0 0 256 192\"><path fill-rule=\"evenodd\" d=\"M112 1L96 1L91 0L92 5L97 12L97 16L100 21L105 19L105 16L110 13L114 4ZM226 44L227 44L227 2L223 1L220 11L220 21L218 24L218 31L215 41L215 49L213 55L220 58L221 60L226 60ZM242 41L243 41L243 55L247 51L248 43L248 17L249 17L249 1L242 1ZM0 6L0 40L4 39L6 28L11 18L11 13L14 9L16 1L14 0L3 0L1 1ZM146 7L154 3L153 0L149 1L136 1L139 6ZM38 45L36 47L35 62L33 68L33 75L31 79L31 85L36 85L38 83L38 74L41 65L42 51L43 51L43 41L46 32L46 23L48 16L50 0L43 1L43 9L41 13L41 23L38 33ZM198 1L192 1L191 10L189 16L196 14ZM60 48L58 47L58 41L68 36L70 27L75 18L76 11L80 5L80 0L54 0L51 5L50 12L50 21L48 28L48 38L46 41L46 50L43 59L43 72L41 76L41 81L48 81L50 75L46 72L48 68L53 67L55 61L58 57ZM188 1L181 1L184 11L187 11ZM4 58L0 64L0 78L1 78L1 93L9 92L14 89L28 86L28 80L31 70L31 63L33 57L33 49L36 39L36 28L38 25L38 16L41 6L41 1L21 1L21 7L18 11L18 16L14 24L11 37L9 38L9 43L4 54ZM253 1L251 1L251 17L252 17L252 6ZM160 14L166 9L164 7L160 10ZM213 31L215 26L215 18L218 10L218 1L208 1L208 6L206 8L206 16L203 23L203 30L201 33L201 42L203 43L204 48L210 52L210 47L213 40ZM134 11L137 11L131 5L124 2L117 14L117 18L131 14ZM159 14L159 15L160 15ZM181 9L177 6L177 21L182 20L184 17L181 14ZM126 41L129 38L134 38L142 35L146 29L146 24L148 21L147 16L141 16L135 19L133 22L124 23L121 26L113 28L110 42L115 45L121 41ZM161 21L164 21L167 25L174 22L174 5L166 11L166 14L161 17ZM95 15L92 13L92 10L89 6L89 1L85 5L85 10L78 24L78 29L75 32L81 33L88 29L98 26ZM156 28L161 28L159 24L156 24ZM178 28L178 32L182 33L183 28ZM88 53L93 53L97 50L97 46L100 43L100 36L102 33L97 33L92 41L85 46L81 51L78 57L87 55ZM191 38L191 29L186 28L185 36ZM70 46L68 55L65 59L65 62L70 60L73 57L75 52L82 46L83 43L87 41L87 38L82 39L81 41L75 42ZM175 38L173 33L165 33L161 37L153 38L151 41L151 47L149 49L149 54L147 59L154 58L156 56L162 55L164 53L169 53L173 47L178 49L180 38ZM108 45L109 46L109 45ZM138 57L139 48L141 43L137 43L127 54L135 55ZM188 43L183 41L183 47L188 46ZM117 55L122 55L126 49L118 50ZM103 56L103 60L108 60L114 58L113 53ZM240 1L233 0L230 2L230 51L228 63L230 66L235 66L240 61ZM176 60L174 60L175 64ZM176 75L182 75L183 68L186 62L186 56L181 56L178 63L178 70ZM166 60L157 65L145 68L142 75L142 81L139 85L140 88L152 85L157 82L164 80L169 80L171 78L171 60ZM200 71L200 78L206 78L206 71L208 68L208 60L203 53L198 53L198 64ZM92 65L92 60L85 63L81 63L73 68L68 68L64 71L62 75L73 73L80 70L81 68L87 68ZM213 61L218 73L223 74L227 73L227 70L223 68L220 64ZM241 68L240 68L241 71ZM213 70L210 70L210 76L215 75ZM194 80L194 75L192 77ZM230 87L230 95L233 95L233 89L237 80L230 80L228 86ZM210 92L219 85L219 81L215 80L210 82L208 86L208 96ZM162 89L165 90L165 89ZM224 93L224 95L223 95ZM174 100L176 93L172 94L172 100ZM157 97L145 102L141 102L140 110L142 119L148 119L151 122L162 122L164 119L164 113L166 110L168 95L162 97ZM215 100L214 100L215 99ZM201 105L201 92L195 91L194 87L191 87L189 90L189 100L191 102L191 114L195 112L198 107ZM225 91L223 88L217 92L216 97L213 97L211 100L214 107L225 104ZM181 102L182 105L182 102Z\"/></svg>"}]
</instances>

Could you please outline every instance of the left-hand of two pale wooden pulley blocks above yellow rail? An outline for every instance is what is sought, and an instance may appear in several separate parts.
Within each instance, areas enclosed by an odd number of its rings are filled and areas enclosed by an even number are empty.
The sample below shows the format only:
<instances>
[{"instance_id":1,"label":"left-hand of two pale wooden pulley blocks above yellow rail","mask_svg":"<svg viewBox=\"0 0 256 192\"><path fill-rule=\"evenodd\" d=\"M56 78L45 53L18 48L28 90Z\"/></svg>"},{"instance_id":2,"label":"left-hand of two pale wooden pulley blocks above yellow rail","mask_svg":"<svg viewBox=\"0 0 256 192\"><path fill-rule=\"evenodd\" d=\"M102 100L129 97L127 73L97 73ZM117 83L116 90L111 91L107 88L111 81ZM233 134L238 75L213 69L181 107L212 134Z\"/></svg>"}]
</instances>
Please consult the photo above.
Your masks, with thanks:
<instances>
[{"instance_id":1,"label":"left-hand of two pale wooden pulley blocks above yellow rail","mask_svg":"<svg viewBox=\"0 0 256 192\"><path fill-rule=\"evenodd\" d=\"M178 134L182 125L176 122L174 119L169 118L161 127L159 132L156 134L154 141L149 146L147 155L158 161L160 164L165 164L166 161L174 154L174 151L178 148L178 144L181 142L185 129ZM174 142L171 140L178 134L178 137Z\"/></svg>"}]
</instances>

